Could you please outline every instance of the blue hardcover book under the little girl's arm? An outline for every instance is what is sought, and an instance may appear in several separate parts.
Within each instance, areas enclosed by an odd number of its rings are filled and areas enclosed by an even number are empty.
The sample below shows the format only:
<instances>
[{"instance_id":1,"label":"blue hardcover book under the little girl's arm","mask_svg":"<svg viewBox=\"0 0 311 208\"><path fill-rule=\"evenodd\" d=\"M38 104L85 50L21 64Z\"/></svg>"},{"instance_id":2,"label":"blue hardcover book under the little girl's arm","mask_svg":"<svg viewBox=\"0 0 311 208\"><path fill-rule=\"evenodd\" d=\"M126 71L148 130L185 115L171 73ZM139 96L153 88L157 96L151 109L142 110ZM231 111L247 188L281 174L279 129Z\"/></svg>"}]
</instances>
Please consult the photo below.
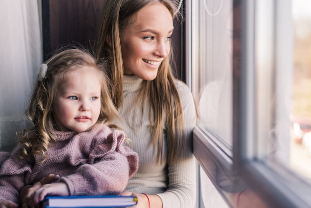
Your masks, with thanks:
<instances>
[{"instance_id":1,"label":"blue hardcover book under the little girl's arm","mask_svg":"<svg viewBox=\"0 0 311 208\"><path fill-rule=\"evenodd\" d=\"M124 208L136 204L137 198L133 196L48 196L41 208Z\"/></svg>"}]
</instances>

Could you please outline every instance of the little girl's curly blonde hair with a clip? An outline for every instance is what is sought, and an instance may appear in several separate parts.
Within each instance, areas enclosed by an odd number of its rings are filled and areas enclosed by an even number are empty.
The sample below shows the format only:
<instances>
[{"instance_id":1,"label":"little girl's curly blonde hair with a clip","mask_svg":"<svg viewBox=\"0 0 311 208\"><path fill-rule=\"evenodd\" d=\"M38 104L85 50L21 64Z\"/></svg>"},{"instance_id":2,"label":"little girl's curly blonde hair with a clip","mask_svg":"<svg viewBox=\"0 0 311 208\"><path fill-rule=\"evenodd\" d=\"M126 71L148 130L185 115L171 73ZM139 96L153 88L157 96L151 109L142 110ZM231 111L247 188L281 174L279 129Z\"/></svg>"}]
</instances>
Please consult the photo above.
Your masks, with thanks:
<instances>
[{"instance_id":1,"label":"little girl's curly blonde hair with a clip","mask_svg":"<svg viewBox=\"0 0 311 208\"><path fill-rule=\"evenodd\" d=\"M87 50L72 48L57 53L45 64L48 66L46 76L43 80L36 81L29 107L25 112L33 126L17 134L21 158L44 155L43 161L46 160L50 143L56 141L56 125L52 112L54 98L60 84L68 79L69 72L82 66L98 69L96 72L101 81L101 109L97 123L119 128L112 124L113 120L118 118L118 111L110 99L103 61L97 61Z\"/></svg>"}]
</instances>

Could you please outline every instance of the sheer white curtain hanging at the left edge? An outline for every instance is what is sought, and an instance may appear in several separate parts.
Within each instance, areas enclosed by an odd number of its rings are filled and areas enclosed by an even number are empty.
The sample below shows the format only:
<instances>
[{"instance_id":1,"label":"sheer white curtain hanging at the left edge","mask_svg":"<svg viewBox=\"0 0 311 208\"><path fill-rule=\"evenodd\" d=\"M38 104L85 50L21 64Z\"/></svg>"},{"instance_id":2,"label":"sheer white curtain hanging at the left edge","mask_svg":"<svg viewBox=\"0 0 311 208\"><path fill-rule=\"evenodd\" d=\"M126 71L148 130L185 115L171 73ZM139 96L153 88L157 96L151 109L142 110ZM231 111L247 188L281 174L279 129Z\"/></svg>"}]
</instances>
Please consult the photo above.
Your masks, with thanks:
<instances>
[{"instance_id":1,"label":"sheer white curtain hanging at the left edge","mask_svg":"<svg viewBox=\"0 0 311 208\"><path fill-rule=\"evenodd\" d=\"M24 111L42 62L40 0L0 0L0 150L25 127Z\"/></svg>"}]
</instances>

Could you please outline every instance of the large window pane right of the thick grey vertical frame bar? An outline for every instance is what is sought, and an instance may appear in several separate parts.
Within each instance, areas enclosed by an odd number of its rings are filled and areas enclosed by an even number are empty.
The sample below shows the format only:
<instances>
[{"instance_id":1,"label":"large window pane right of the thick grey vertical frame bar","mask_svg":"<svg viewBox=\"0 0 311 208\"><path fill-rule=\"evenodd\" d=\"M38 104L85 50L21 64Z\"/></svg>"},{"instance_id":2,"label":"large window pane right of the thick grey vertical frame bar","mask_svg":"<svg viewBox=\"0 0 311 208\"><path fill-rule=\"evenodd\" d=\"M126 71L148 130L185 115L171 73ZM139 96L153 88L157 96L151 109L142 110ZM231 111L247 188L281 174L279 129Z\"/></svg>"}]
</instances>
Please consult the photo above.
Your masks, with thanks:
<instances>
[{"instance_id":1,"label":"large window pane right of the thick grey vertical frame bar","mask_svg":"<svg viewBox=\"0 0 311 208\"><path fill-rule=\"evenodd\" d=\"M256 4L257 156L310 182L311 1L264 2Z\"/></svg>"}]
</instances>

